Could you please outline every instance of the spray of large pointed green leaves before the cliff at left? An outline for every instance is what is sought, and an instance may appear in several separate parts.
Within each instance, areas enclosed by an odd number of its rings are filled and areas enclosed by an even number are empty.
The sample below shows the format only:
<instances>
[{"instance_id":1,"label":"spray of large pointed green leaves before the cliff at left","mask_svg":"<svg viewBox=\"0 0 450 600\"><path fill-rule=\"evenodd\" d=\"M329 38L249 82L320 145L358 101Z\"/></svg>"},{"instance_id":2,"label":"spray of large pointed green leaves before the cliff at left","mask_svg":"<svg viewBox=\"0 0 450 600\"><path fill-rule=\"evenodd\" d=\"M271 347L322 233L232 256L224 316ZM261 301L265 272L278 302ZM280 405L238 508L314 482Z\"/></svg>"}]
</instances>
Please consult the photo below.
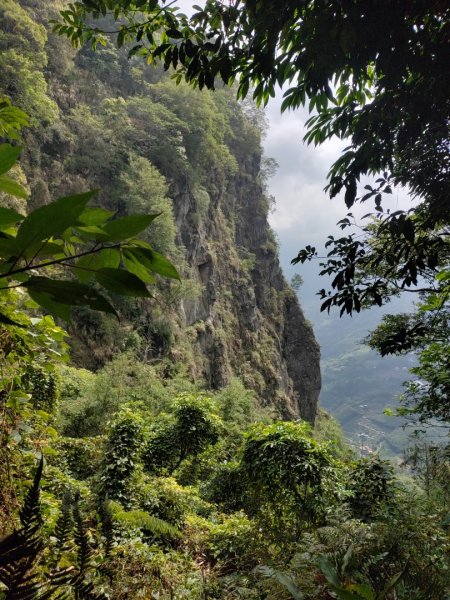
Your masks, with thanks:
<instances>
[{"instance_id":1,"label":"spray of large pointed green leaves before the cliff at left","mask_svg":"<svg viewBox=\"0 0 450 600\"><path fill-rule=\"evenodd\" d=\"M0 147L0 172L8 171L17 157L16 148L3 144ZM167 259L134 237L157 215L132 215L111 220L111 212L87 207L94 194L88 192L60 198L35 209L27 217L11 209L2 209L0 228L4 237L0 269L3 289L22 286L37 304L67 319L70 307L74 305L116 313L104 295L85 283L91 279L109 292L148 297L146 284L154 282L154 273L178 278L176 269ZM56 265L73 269L80 282L34 274Z\"/></svg>"}]
</instances>

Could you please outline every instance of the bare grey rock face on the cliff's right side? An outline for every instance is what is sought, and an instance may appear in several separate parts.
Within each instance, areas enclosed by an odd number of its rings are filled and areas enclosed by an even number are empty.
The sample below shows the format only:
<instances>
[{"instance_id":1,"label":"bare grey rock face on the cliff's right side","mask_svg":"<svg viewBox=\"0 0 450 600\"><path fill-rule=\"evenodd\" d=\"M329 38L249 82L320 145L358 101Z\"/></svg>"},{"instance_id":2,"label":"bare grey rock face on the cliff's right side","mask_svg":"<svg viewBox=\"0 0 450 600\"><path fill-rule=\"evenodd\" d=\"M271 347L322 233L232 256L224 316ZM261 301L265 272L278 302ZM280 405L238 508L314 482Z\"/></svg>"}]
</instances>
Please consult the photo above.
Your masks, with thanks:
<instances>
[{"instance_id":1,"label":"bare grey rock face on the cliff's right side","mask_svg":"<svg viewBox=\"0 0 450 600\"><path fill-rule=\"evenodd\" d=\"M172 194L178 242L202 290L182 302L192 369L211 388L237 375L284 418L313 423L320 349L281 271L258 182L260 157L250 159L235 176L214 182L201 219L195 193Z\"/></svg>"}]
</instances>

